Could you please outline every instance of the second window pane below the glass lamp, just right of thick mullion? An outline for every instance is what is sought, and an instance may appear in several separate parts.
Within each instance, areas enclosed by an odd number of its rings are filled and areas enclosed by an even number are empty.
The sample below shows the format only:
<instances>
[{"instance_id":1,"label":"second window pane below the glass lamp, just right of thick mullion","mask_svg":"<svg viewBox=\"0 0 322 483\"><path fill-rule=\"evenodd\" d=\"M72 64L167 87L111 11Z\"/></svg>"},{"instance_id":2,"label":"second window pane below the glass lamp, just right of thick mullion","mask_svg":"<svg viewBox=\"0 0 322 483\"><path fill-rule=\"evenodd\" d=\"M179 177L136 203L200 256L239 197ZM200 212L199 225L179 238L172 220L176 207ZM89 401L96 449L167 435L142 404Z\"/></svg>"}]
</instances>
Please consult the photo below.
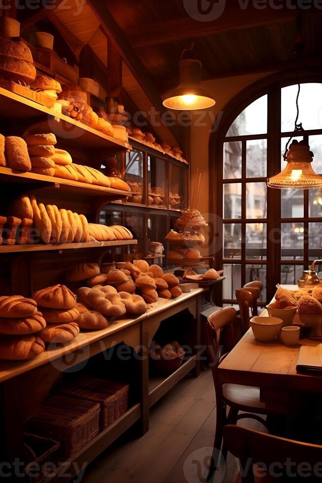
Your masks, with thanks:
<instances>
[{"instance_id":1,"label":"second window pane below the glass lamp, just right of thick mullion","mask_svg":"<svg viewBox=\"0 0 322 483\"><path fill-rule=\"evenodd\" d=\"M281 260L296 260L304 255L304 224L282 223L281 225Z\"/></svg>"}]
</instances>

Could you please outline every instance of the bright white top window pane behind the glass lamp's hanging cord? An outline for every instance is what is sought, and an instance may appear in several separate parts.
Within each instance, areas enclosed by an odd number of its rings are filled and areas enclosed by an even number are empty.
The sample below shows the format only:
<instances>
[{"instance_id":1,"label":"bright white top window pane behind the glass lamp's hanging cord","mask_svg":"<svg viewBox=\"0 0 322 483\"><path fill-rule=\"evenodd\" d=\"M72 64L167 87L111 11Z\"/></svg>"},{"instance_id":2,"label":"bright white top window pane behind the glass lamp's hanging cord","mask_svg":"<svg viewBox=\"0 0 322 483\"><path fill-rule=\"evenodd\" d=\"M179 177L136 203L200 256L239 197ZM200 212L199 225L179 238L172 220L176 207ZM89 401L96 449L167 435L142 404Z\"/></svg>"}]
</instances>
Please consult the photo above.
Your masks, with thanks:
<instances>
[{"instance_id":1,"label":"bright white top window pane behind the glass lamp's hanging cord","mask_svg":"<svg viewBox=\"0 0 322 483\"><path fill-rule=\"evenodd\" d=\"M297 85L282 89L282 133L294 129L296 96ZM299 108L304 129L322 129L322 84L301 84Z\"/></svg>"}]
</instances>

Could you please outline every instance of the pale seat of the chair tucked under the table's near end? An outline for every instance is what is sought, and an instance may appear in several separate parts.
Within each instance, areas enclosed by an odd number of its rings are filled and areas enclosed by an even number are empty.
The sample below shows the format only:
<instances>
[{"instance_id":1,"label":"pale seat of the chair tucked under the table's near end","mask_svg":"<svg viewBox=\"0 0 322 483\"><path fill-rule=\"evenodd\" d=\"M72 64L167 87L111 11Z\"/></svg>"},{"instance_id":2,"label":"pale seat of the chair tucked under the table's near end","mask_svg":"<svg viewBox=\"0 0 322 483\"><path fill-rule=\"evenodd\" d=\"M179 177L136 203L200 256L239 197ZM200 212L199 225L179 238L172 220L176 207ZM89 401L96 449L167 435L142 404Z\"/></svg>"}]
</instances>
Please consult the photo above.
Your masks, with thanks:
<instances>
[{"instance_id":1,"label":"pale seat of the chair tucked under the table's near end","mask_svg":"<svg viewBox=\"0 0 322 483\"><path fill-rule=\"evenodd\" d=\"M223 395L225 403L230 407L250 413L267 414L265 403L260 401L259 387L224 384Z\"/></svg>"}]
</instances>

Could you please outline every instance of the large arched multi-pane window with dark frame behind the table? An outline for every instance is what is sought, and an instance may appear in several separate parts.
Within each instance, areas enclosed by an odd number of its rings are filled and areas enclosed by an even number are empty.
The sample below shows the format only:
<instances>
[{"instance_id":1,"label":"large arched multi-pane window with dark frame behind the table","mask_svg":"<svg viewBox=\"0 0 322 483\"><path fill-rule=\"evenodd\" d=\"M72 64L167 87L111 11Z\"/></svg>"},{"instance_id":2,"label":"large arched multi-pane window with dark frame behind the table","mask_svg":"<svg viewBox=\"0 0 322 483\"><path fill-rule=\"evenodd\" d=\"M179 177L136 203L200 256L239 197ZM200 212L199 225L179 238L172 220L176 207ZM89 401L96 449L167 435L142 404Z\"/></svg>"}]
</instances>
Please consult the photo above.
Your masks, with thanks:
<instances>
[{"instance_id":1,"label":"large arched multi-pane window with dark frame behind the table","mask_svg":"<svg viewBox=\"0 0 322 483\"><path fill-rule=\"evenodd\" d=\"M216 136L214 207L223 220L216 257L225 270L224 305L234 304L235 289L251 280L263 282L265 305L276 283L297 284L302 271L322 258L322 192L266 186L267 177L284 166L296 93L296 84L262 89L226 117ZM315 154L313 168L322 174L322 83L301 83L299 120Z\"/></svg>"}]
</instances>

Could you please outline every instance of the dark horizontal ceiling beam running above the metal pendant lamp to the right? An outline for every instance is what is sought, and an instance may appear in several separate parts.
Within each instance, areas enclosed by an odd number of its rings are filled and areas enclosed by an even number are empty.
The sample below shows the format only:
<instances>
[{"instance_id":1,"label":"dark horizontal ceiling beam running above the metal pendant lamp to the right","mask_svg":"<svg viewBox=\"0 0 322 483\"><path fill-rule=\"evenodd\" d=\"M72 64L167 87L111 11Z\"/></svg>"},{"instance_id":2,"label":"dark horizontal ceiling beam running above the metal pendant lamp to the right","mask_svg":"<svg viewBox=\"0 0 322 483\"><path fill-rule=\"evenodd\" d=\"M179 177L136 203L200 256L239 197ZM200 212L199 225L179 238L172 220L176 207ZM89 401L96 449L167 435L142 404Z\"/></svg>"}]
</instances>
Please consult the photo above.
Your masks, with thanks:
<instances>
[{"instance_id":1,"label":"dark horizontal ceiling beam running above the metal pendant lamp to the right","mask_svg":"<svg viewBox=\"0 0 322 483\"><path fill-rule=\"evenodd\" d=\"M321 10L319 11L321 12ZM239 6L226 7L223 14L212 22L201 22L191 17L183 17L144 26L138 25L124 34L127 35L132 47L138 48L286 22L294 19L297 13L296 10L286 7L276 10L267 6L265 10L259 10L250 3L245 9ZM302 13L305 16L317 14L317 11L304 10Z\"/></svg>"}]
</instances>

